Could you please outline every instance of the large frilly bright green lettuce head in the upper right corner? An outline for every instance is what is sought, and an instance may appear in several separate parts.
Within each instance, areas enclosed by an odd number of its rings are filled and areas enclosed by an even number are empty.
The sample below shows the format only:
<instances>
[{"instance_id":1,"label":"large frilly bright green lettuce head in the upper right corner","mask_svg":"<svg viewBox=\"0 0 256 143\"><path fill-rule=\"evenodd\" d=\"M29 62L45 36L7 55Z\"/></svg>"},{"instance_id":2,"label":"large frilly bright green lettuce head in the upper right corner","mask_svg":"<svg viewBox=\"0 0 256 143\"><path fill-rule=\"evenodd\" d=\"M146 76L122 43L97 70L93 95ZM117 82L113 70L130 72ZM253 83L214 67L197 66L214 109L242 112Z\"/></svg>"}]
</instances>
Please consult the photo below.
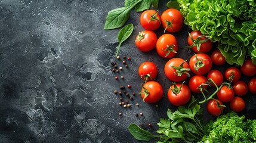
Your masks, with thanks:
<instances>
[{"instance_id":1,"label":"large frilly bright green lettuce head in the upper right corner","mask_svg":"<svg viewBox=\"0 0 256 143\"><path fill-rule=\"evenodd\" d=\"M167 6L176 8L176 2L184 23L218 42L227 63L242 66L249 55L256 64L256 1L172 0Z\"/></svg>"}]
</instances>

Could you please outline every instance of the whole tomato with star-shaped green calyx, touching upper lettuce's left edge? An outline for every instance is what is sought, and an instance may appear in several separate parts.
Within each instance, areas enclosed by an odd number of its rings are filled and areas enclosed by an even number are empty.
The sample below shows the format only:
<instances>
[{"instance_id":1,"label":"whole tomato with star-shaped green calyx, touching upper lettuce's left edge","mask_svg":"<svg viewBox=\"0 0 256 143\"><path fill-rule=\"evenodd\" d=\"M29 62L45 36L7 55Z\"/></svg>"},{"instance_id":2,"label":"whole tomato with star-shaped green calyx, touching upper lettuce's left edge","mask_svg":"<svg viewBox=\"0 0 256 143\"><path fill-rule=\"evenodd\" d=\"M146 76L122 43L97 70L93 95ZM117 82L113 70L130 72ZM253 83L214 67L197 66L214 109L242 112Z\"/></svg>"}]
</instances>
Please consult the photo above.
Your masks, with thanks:
<instances>
[{"instance_id":1,"label":"whole tomato with star-shaped green calyx, touching upper lettuce's left edge","mask_svg":"<svg viewBox=\"0 0 256 143\"><path fill-rule=\"evenodd\" d=\"M193 46L192 50L195 53L206 53L212 48L212 42L203 36L200 31L190 32L190 36L187 37L187 43L189 46Z\"/></svg>"}]
</instances>

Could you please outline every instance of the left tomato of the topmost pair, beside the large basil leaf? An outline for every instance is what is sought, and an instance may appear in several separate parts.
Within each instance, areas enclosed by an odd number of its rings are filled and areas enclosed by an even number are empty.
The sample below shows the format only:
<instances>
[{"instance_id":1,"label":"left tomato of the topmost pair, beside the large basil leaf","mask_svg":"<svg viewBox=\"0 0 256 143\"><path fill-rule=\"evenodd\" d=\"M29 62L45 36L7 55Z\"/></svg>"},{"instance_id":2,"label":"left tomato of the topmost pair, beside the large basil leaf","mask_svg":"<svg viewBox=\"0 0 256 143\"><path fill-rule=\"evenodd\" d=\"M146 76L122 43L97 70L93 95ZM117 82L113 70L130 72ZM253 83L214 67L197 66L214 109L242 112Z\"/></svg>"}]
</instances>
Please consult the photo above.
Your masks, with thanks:
<instances>
[{"instance_id":1,"label":"left tomato of the topmost pair, beside the large basil leaf","mask_svg":"<svg viewBox=\"0 0 256 143\"><path fill-rule=\"evenodd\" d=\"M140 24L146 30L156 30L161 26L161 17L158 11L146 10L140 15Z\"/></svg>"}]
</instances>

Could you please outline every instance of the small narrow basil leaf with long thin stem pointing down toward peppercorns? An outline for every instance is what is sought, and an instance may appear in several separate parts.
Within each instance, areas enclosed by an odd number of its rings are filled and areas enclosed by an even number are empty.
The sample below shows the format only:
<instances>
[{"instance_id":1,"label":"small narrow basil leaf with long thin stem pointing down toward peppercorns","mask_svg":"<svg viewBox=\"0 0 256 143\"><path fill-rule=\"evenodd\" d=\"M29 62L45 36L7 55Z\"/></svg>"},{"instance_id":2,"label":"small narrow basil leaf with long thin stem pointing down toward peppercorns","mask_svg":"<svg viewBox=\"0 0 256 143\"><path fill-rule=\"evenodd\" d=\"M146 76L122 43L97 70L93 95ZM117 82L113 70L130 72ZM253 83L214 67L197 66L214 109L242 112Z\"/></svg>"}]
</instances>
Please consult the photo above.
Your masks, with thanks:
<instances>
[{"instance_id":1,"label":"small narrow basil leaf with long thin stem pointing down toward peppercorns","mask_svg":"<svg viewBox=\"0 0 256 143\"><path fill-rule=\"evenodd\" d=\"M127 26L123 27L118 33L119 45L118 45L118 50L116 51L116 56L118 56L118 51L120 49L122 42L124 42L127 38L129 38L129 36L133 32L133 29L134 29L133 24L128 24Z\"/></svg>"}]
</instances>

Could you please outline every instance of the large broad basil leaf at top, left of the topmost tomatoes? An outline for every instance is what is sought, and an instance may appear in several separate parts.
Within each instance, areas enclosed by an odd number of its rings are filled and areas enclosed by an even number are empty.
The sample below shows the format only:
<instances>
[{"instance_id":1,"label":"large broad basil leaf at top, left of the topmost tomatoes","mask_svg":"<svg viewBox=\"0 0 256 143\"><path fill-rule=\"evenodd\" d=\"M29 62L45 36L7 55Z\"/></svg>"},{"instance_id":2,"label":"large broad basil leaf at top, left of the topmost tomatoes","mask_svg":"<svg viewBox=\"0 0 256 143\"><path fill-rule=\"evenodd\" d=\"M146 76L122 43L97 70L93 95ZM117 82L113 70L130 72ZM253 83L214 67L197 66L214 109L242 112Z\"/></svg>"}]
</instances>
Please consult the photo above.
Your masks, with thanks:
<instances>
[{"instance_id":1,"label":"large broad basil leaf at top, left of the topmost tomatoes","mask_svg":"<svg viewBox=\"0 0 256 143\"><path fill-rule=\"evenodd\" d=\"M129 19L129 14L135 5L139 4L142 0L136 1L129 7L116 8L115 10L109 11L106 17L104 30L116 29L123 26Z\"/></svg>"}]
</instances>

